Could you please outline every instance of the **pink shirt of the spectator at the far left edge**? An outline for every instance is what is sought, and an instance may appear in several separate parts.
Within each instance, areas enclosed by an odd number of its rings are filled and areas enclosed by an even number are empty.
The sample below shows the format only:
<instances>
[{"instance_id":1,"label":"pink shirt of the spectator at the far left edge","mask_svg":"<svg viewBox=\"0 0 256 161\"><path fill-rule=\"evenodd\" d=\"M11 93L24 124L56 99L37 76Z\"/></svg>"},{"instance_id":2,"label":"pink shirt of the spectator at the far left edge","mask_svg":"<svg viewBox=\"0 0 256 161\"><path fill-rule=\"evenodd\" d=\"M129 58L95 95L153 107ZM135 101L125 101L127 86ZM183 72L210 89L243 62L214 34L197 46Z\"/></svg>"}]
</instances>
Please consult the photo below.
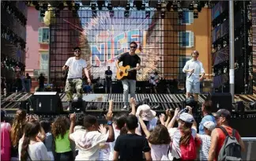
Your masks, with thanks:
<instances>
[{"instance_id":1,"label":"pink shirt of the spectator at the far left edge","mask_svg":"<svg viewBox=\"0 0 256 161\"><path fill-rule=\"evenodd\" d=\"M7 122L1 122L1 160L10 159L10 130L11 125Z\"/></svg>"}]
</instances>

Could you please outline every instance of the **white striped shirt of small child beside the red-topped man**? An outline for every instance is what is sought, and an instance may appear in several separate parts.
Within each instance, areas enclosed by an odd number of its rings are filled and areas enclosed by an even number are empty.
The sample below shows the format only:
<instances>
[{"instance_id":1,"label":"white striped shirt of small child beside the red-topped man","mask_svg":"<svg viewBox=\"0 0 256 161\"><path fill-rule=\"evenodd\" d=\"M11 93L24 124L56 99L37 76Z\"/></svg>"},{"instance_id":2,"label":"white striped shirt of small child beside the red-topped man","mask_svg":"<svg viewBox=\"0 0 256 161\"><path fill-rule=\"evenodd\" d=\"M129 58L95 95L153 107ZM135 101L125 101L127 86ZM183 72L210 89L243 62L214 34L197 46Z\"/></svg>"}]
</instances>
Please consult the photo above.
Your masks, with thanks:
<instances>
[{"instance_id":1,"label":"white striped shirt of small child beside the red-topped man","mask_svg":"<svg viewBox=\"0 0 256 161\"><path fill-rule=\"evenodd\" d=\"M198 137L201 139L200 160L208 160L211 136L198 135Z\"/></svg>"}]
</instances>

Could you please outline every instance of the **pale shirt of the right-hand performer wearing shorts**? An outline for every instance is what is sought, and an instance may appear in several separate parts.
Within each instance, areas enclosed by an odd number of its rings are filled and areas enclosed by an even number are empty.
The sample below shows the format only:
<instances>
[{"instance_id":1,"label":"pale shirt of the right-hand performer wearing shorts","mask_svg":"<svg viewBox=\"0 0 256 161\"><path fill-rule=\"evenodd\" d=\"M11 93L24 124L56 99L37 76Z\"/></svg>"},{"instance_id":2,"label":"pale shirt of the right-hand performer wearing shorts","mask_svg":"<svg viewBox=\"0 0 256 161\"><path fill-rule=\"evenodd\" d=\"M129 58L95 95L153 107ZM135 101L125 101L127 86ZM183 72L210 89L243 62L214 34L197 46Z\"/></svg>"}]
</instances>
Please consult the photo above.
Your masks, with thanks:
<instances>
[{"instance_id":1,"label":"pale shirt of the right-hand performer wearing shorts","mask_svg":"<svg viewBox=\"0 0 256 161\"><path fill-rule=\"evenodd\" d=\"M195 82L199 81L199 75L201 73L205 73L205 69L202 66L202 63L198 60L194 61L190 59L186 62L186 65L183 68L183 73L185 73L185 69L194 69L194 73L190 76L190 72L186 73L186 80L194 80Z\"/></svg>"}]
</instances>

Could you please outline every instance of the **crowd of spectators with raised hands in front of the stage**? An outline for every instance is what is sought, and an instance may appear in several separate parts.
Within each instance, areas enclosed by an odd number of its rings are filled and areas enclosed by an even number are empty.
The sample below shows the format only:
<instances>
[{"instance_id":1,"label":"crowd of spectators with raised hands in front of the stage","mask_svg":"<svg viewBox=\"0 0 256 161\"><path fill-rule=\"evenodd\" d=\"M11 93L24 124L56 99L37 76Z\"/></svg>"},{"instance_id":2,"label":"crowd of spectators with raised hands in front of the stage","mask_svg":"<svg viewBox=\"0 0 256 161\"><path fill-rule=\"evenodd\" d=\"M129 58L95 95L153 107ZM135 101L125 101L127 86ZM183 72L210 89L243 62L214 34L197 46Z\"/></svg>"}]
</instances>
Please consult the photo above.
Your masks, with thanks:
<instances>
[{"instance_id":1,"label":"crowd of spectators with raised hands in front of the stage","mask_svg":"<svg viewBox=\"0 0 256 161\"><path fill-rule=\"evenodd\" d=\"M230 112L212 114L210 100L201 106L199 125L191 107L159 117L147 104L136 108L133 98L130 107L130 114L113 116L110 100L104 125L84 113L40 120L24 110L6 122L1 110L1 160L239 160L245 151L228 124Z\"/></svg>"}]
</instances>

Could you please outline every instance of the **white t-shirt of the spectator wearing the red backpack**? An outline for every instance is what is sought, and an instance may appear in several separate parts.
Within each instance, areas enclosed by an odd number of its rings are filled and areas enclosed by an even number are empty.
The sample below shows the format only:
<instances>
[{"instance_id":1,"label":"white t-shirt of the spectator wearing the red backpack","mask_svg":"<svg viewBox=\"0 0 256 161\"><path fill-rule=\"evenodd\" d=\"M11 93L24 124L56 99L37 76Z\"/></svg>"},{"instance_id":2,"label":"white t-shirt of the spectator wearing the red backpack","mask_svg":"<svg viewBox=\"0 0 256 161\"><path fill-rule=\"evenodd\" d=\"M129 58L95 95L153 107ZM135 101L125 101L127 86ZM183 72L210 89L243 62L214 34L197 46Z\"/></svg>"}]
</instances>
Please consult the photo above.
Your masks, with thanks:
<instances>
[{"instance_id":1,"label":"white t-shirt of the spectator wearing the red backpack","mask_svg":"<svg viewBox=\"0 0 256 161\"><path fill-rule=\"evenodd\" d=\"M191 130L192 130L192 136L195 138L197 136L197 129L192 127ZM179 140L181 137L181 133L178 128L168 129L168 132L170 134L171 141L172 141L171 149L170 149L171 156L173 156L176 159L179 159L181 155L180 148L179 148Z\"/></svg>"}]
</instances>

